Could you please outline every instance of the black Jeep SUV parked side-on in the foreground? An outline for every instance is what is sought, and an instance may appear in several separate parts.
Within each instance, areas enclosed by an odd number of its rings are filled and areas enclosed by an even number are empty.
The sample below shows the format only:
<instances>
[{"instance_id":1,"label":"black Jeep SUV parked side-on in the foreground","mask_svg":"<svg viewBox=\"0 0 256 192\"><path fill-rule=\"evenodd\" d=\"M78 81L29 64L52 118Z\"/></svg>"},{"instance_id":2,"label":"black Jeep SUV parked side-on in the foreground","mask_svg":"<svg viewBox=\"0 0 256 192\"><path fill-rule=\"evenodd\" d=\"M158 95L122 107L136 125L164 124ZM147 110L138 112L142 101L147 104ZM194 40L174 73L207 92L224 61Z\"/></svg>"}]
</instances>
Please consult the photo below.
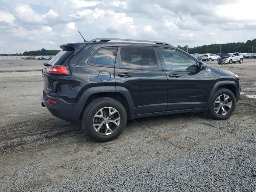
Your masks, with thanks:
<instances>
[{"instance_id":1,"label":"black Jeep SUV parked side-on in the foreground","mask_svg":"<svg viewBox=\"0 0 256 192\"><path fill-rule=\"evenodd\" d=\"M60 48L42 70L42 106L63 120L82 120L99 142L118 137L127 119L208 111L224 120L240 96L236 74L165 42L98 38Z\"/></svg>"}]
</instances>

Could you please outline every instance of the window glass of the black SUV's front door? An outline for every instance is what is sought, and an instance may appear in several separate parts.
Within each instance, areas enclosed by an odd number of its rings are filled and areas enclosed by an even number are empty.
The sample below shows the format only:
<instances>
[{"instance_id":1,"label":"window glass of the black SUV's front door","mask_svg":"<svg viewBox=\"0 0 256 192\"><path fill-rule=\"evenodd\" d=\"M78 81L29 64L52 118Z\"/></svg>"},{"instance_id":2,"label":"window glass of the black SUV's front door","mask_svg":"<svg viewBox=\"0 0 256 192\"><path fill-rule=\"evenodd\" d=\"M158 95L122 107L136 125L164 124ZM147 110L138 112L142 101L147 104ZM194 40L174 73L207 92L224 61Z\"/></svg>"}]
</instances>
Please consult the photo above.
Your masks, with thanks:
<instances>
[{"instance_id":1,"label":"window glass of the black SUV's front door","mask_svg":"<svg viewBox=\"0 0 256 192\"><path fill-rule=\"evenodd\" d=\"M166 70L191 71L197 70L196 61L182 52L171 49L159 49L166 66Z\"/></svg>"}]
</instances>

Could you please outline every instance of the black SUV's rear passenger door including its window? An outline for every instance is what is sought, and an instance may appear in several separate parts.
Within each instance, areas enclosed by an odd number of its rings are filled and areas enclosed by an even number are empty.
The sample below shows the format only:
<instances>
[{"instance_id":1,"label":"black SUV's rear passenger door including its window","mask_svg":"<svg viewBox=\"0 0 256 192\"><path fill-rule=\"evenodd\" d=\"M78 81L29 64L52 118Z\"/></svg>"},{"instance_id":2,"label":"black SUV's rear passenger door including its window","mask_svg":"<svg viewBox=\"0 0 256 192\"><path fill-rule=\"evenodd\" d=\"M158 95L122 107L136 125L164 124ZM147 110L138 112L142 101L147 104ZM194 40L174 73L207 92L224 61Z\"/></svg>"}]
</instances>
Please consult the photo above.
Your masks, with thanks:
<instances>
[{"instance_id":1,"label":"black SUV's rear passenger door including its window","mask_svg":"<svg viewBox=\"0 0 256 192\"><path fill-rule=\"evenodd\" d=\"M156 53L156 48L148 46L118 47L116 88L121 86L130 92L135 114L167 109L167 77Z\"/></svg>"}]
</instances>

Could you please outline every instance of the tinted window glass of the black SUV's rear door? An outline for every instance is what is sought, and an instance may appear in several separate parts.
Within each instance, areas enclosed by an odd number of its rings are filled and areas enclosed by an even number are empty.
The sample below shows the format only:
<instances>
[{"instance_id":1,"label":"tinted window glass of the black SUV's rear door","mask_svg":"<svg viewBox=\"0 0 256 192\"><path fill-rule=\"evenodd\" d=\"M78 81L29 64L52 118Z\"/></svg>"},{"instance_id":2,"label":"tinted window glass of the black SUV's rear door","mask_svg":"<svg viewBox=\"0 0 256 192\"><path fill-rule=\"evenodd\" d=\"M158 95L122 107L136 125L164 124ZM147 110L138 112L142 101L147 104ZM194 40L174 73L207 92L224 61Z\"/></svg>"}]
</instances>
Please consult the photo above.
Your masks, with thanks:
<instances>
[{"instance_id":1,"label":"tinted window glass of the black SUV's rear door","mask_svg":"<svg viewBox=\"0 0 256 192\"><path fill-rule=\"evenodd\" d=\"M158 69L154 48L121 48L125 68Z\"/></svg>"}]
</instances>

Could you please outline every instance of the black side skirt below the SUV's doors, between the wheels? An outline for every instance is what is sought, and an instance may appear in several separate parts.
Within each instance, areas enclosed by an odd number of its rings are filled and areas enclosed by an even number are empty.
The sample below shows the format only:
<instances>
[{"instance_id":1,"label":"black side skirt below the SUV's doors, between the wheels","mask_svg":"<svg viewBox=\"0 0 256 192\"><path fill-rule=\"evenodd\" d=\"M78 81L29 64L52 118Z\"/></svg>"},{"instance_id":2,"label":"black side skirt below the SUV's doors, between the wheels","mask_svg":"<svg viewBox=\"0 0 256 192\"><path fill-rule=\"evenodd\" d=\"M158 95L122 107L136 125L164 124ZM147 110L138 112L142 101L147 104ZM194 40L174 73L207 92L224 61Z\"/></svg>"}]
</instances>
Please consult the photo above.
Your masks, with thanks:
<instances>
[{"instance_id":1,"label":"black side skirt below the SUV's doors, between the wheels","mask_svg":"<svg viewBox=\"0 0 256 192\"><path fill-rule=\"evenodd\" d=\"M172 111L162 111L154 113L144 113L138 115L132 115L129 119L149 117L149 116L159 116L159 115L168 115L168 114L177 114L177 113L188 113L188 112L206 112L208 108L196 108L196 109L184 109L184 110L172 110Z\"/></svg>"}]
</instances>

